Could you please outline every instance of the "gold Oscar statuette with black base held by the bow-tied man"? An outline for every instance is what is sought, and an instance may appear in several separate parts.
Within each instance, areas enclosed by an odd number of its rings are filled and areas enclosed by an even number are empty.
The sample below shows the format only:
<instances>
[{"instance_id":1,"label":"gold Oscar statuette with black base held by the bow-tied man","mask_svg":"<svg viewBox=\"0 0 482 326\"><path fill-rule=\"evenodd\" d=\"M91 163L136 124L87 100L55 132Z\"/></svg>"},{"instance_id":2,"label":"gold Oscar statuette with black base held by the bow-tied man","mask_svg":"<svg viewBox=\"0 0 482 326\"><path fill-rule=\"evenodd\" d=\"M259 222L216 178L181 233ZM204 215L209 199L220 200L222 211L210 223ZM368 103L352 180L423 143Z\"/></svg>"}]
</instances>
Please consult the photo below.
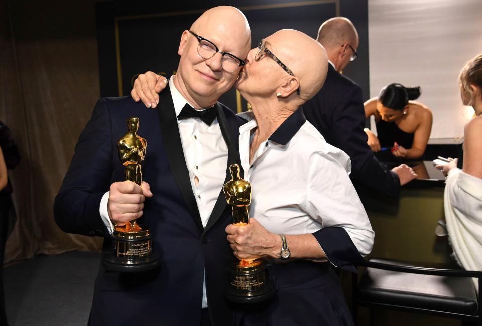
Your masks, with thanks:
<instances>
[{"instance_id":1,"label":"gold Oscar statuette with black base held by the bow-tied man","mask_svg":"<svg viewBox=\"0 0 482 326\"><path fill-rule=\"evenodd\" d=\"M147 141L137 134L139 118L127 119L128 132L117 142L119 158L125 167L125 180L142 184L141 164L146 155ZM136 220L115 226L112 233L112 252L104 257L108 270L140 272L157 267L157 255L152 251L152 235Z\"/></svg>"}]
</instances>

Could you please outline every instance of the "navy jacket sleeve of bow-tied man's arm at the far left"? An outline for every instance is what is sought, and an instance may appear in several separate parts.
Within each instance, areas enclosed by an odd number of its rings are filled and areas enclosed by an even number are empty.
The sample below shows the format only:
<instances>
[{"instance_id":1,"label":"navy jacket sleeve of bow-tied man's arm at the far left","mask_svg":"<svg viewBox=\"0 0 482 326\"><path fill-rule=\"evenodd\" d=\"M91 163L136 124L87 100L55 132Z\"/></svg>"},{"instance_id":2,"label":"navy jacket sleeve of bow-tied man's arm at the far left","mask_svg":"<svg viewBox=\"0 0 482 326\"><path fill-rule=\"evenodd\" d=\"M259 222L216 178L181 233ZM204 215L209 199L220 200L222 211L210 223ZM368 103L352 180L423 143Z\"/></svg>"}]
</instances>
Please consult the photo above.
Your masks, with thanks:
<instances>
[{"instance_id":1,"label":"navy jacket sleeve of bow-tied man's arm at the far left","mask_svg":"<svg viewBox=\"0 0 482 326\"><path fill-rule=\"evenodd\" d=\"M107 102L100 99L80 134L75 153L54 202L54 219L68 233L108 236L100 200L110 188L112 132Z\"/></svg>"}]
</instances>

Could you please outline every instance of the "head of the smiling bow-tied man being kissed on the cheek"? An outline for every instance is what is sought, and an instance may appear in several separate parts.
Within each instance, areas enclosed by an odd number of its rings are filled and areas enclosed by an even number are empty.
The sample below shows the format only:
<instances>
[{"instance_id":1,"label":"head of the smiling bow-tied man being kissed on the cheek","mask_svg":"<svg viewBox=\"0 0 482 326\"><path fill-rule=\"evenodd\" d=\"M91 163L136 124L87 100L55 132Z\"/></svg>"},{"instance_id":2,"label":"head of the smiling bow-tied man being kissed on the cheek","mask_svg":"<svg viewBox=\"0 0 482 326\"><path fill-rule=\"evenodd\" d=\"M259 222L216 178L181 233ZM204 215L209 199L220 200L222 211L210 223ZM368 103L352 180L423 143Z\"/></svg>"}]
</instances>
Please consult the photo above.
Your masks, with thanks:
<instances>
[{"instance_id":1,"label":"head of the smiling bow-tied man being kissed on the cheek","mask_svg":"<svg viewBox=\"0 0 482 326\"><path fill-rule=\"evenodd\" d=\"M204 52L202 56L199 52L202 39L195 35L209 40L218 51L207 55ZM182 33L178 49L181 59L174 85L192 106L212 106L234 85L241 69L239 66L234 70L225 70L225 57L218 52L244 60L250 47L250 26L242 12L230 6L209 9L192 24L189 31Z\"/></svg>"}]
</instances>

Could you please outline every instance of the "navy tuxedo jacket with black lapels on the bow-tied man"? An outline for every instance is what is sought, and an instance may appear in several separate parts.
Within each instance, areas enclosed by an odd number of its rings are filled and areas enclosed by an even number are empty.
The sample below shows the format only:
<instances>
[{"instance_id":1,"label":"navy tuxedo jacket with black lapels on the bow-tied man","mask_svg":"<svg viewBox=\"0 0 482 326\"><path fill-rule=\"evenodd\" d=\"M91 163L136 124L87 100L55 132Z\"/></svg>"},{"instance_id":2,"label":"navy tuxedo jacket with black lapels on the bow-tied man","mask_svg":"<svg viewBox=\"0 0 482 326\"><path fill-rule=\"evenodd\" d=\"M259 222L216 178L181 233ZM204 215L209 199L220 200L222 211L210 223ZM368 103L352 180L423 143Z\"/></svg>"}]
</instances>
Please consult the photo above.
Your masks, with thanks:
<instances>
[{"instance_id":1,"label":"navy tuxedo jacket with black lapels on the bow-tied man","mask_svg":"<svg viewBox=\"0 0 482 326\"><path fill-rule=\"evenodd\" d=\"M228 167L238 161L237 139L243 120L217 103L217 118L229 148ZM199 325L204 270L213 325L232 322L224 299L233 259L225 227L231 209L220 189L218 200L203 229L192 192L171 99L165 89L159 107L147 109L131 97L102 98L80 135L69 170L55 199L54 217L62 230L104 236L109 233L100 217L103 194L116 181L124 181L117 141L127 132L126 120L140 119L139 135L147 140L143 179L153 197L145 201L140 224L151 229L153 248L160 253L160 269L144 273L107 272L101 266L95 281L91 325Z\"/></svg>"}]
</instances>

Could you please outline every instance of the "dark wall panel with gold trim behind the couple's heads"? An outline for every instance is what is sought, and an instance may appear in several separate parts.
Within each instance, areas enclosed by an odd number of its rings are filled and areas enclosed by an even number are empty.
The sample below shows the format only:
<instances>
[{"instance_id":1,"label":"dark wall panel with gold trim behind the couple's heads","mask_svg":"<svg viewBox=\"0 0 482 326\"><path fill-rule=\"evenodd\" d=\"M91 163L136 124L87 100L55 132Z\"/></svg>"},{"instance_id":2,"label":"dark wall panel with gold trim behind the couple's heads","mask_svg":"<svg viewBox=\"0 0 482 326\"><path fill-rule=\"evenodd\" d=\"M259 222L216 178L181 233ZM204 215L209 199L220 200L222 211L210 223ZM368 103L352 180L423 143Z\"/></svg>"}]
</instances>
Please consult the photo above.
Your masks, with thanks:
<instances>
[{"instance_id":1,"label":"dark wall panel with gold trim behind the couple's heads","mask_svg":"<svg viewBox=\"0 0 482 326\"><path fill-rule=\"evenodd\" d=\"M213 1L205 5L147 2L137 3L135 8L130 3L119 1L98 3L101 96L129 95L136 76L148 70L166 77L172 75L179 63L177 49L182 32L189 29L205 9L217 5L231 5L243 11L251 26L252 47L283 28L300 30L316 38L323 21L335 16L348 17L358 30L360 45L357 51L359 58L344 73L362 86L364 96L368 98L367 1L353 0ZM120 84L119 76L122 76ZM236 110L235 89L224 94L220 101ZM244 100L241 110L246 110Z\"/></svg>"}]
</instances>

